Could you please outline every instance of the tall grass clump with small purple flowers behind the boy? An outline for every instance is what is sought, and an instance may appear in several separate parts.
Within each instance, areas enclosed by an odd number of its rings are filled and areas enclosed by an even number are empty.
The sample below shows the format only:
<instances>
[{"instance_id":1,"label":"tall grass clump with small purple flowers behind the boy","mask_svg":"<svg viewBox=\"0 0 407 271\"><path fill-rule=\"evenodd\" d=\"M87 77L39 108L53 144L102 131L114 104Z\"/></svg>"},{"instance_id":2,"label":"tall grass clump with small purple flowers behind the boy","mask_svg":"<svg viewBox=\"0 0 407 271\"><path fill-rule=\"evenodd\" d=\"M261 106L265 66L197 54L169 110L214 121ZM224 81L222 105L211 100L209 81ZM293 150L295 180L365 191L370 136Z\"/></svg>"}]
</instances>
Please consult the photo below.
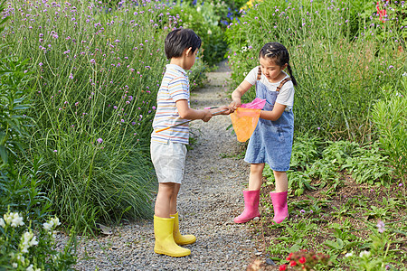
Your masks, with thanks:
<instances>
[{"instance_id":1,"label":"tall grass clump with small purple flowers behind the boy","mask_svg":"<svg viewBox=\"0 0 407 271\"><path fill-rule=\"evenodd\" d=\"M27 154L43 155L43 192L77 229L152 214L148 145L174 27L163 23L168 9L154 1L7 4L9 55L29 58L35 76Z\"/></svg>"}]
</instances>

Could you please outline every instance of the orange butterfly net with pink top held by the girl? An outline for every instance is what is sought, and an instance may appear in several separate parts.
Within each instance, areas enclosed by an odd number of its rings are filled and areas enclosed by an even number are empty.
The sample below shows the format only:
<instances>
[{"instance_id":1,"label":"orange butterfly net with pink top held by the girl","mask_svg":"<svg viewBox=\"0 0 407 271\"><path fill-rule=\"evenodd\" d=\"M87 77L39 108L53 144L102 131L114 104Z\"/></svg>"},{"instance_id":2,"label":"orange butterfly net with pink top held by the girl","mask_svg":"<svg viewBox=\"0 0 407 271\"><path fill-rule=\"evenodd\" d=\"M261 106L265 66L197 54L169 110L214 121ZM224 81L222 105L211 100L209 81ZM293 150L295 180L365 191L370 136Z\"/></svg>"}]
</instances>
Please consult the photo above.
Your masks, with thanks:
<instances>
[{"instance_id":1,"label":"orange butterfly net with pink top held by the girl","mask_svg":"<svg viewBox=\"0 0 407 271\"><path fill-rule=\"evenodd\" d=\"M259 121L260 111L266 104L266 100L255 98L251 103L242 104L241 107L230 115L233 130L239 142L246 142L253 134Z\"/></svg>"}]
</instances>

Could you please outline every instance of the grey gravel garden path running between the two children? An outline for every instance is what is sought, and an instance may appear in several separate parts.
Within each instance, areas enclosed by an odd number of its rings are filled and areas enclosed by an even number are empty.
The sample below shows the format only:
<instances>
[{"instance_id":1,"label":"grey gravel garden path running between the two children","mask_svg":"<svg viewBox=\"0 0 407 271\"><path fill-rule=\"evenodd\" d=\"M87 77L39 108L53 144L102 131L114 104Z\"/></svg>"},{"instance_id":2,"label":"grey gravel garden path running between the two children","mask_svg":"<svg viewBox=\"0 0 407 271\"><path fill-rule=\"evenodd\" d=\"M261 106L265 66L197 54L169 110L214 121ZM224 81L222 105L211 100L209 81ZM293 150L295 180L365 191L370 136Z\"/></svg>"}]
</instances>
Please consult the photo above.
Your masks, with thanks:
<instances>
[{"instance_id":1,"label":"grey gravel garden path running between the two children","mask_svg":"<svg viewBox=\"0 0 407 271\"><path fill-rule=\"evenodd\" d=\"M230 71L221 66L207 74L205 88L191 96L195 108L229 103L222 85ZM226 130L229 116L208 123L191 123L197 142L188 151L185 181L178 196L181 233L197 241L185 246L188 257L154 253L153 221L137 221L115 229L114 234L87 239L79 244L79 270L245 270L258 254L249 225L236 225L233 217L242 210L241 190L247 183L249 165L235 155L241 145ZM105 249L102 249L105 248Z\"/></svg>"}]
</instances>

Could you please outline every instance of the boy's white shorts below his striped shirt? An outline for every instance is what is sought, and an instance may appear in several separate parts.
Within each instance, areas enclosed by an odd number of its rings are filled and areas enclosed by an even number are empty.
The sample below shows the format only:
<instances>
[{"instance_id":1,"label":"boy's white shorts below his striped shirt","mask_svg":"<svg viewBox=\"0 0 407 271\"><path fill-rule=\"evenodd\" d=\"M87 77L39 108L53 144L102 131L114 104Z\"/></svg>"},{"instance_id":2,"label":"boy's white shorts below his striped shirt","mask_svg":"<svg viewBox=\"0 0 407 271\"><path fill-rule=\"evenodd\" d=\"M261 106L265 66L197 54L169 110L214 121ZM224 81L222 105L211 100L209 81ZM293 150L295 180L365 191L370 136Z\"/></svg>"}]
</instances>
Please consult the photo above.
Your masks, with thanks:
<instances>
[{"instance_id":1,"label":"boy's white shorts below his striped shirt","mask_svg":"<svg viewBox=\"0 0 407 271\"><path fill-rule=\"evenodd\" d=\"M150 153L158 182L182 182L185 171L185 144L170 141L165 144L152 141Z\"/></svg>"}]
</instances>

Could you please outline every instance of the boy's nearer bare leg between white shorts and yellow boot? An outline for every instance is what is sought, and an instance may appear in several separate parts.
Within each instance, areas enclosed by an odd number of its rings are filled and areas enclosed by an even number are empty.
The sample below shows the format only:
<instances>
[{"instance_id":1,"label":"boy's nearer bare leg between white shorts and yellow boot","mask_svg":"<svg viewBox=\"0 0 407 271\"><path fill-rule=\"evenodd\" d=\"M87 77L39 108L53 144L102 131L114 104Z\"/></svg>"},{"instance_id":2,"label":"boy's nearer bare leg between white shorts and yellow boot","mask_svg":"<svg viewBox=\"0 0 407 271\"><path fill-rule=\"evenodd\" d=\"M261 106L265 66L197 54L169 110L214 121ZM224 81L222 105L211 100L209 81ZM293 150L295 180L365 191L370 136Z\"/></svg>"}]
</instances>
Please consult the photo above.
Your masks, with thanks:
<instances>
[{"instance_id":1,"label":"boy's nearer bare leg between white shorts and yellow boot","mask_svg":"<svg viewBox=\"0 0 407 271\"><path fill-rule=\"evenodd\" d=\"M174 182L160 182L156 195L155 215L160 218L170 218L171 201L175 192ZM176 203L176 200L175 200Z\"/></svg>"}]
</instances>

